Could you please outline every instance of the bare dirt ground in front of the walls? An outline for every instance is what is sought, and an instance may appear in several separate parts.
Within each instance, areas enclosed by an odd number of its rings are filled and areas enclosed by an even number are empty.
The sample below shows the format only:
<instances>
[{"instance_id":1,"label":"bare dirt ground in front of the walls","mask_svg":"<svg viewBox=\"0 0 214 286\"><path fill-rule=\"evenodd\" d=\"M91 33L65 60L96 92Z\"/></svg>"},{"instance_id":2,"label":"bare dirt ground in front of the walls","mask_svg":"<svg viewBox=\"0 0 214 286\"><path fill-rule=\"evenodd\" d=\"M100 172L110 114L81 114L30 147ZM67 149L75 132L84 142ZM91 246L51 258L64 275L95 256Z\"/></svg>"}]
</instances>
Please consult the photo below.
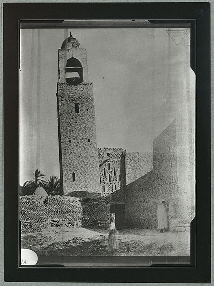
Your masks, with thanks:
<instances>
[{"instance_id":1,"label":"bare dirt ground in front of the walls","mask_svg":"<svg viewBox=\"0 0 214 286\"><path fill-rule=\"evenodd\" d=\"M85 228L49 228L22 234L21 248L40 256L108 256L108 230ZM190 232L164 232L125 229L118 234L115 255L190 255Z\"/></svg>"}]
</instances>

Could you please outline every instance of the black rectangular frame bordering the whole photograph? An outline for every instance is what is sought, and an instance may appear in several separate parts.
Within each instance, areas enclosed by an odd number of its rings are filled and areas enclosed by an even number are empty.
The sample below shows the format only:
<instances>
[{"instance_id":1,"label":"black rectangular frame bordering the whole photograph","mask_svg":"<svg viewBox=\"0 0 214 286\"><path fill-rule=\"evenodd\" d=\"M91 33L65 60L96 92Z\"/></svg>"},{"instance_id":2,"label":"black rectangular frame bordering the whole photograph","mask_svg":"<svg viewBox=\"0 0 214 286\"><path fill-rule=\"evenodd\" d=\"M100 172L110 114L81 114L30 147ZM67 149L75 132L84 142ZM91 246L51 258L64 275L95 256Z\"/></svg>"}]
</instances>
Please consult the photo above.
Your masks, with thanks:
<instances>
[{"instance_id":1,"label":"black rectangular frame bordering the whole photograph","mask_svg":"<svg viewBox=\"0 0 214 286\"><path fill-rule=\"evenodd\" d=\"M8 282L208 283L210 226L210 4L209 3L4 3L4 273ZM18 69L20 20L152 19L191 24L191 67L196 72L196 209L191 264L151 267L19 267ZM11 77L11 70L13 76ZM12 199L11 199L12 198ZM195 226L194 226L195 224Z\"/></svg>"}]
</instances>

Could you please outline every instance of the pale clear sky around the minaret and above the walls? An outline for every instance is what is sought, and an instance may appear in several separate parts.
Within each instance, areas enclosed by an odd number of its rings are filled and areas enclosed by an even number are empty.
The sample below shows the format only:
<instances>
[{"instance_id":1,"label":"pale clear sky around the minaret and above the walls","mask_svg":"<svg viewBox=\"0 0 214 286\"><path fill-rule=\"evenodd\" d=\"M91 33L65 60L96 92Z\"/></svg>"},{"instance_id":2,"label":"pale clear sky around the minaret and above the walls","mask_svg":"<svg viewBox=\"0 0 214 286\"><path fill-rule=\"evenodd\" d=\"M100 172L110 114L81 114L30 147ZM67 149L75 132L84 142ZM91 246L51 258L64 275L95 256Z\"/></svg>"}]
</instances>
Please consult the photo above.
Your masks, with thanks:
<instances>
[{"instance_id":1,"label":"pale clear sky around the minaret and above the walls","mask_svg":"<svg viewBox=\"0 0 214 286\"><path fill-rule=\"evenodd\" d=\"M87 50L98 148L152 152L187 92L190 46L167 29L21 29L20 184L37 168L59 176L58 49L70 31Z\"/></svg>"}]
</instances>

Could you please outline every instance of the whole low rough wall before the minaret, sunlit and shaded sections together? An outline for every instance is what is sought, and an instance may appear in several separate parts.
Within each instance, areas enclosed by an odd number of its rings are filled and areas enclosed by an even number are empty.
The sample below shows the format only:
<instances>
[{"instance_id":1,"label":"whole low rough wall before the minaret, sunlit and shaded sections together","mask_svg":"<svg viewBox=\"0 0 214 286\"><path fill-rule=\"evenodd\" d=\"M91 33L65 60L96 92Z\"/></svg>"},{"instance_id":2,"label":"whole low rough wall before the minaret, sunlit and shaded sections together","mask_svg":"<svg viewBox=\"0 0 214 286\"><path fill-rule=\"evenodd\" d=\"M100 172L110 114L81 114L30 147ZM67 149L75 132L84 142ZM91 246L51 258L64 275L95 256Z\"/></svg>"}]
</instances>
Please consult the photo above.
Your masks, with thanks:
<instances>
[{"instance_id":1,"label":"whole low rough wall before the minaret, sunlit and shaded sections together","mask_svg":"<svg viewBox=\"0 0 214 286\"><path fill-rule=\"evenodd\" d=\"M66 196L20 196L21 232L48 227L108 227L109 204L104 198L79 199Z\"/></svg>"}]
</instances>

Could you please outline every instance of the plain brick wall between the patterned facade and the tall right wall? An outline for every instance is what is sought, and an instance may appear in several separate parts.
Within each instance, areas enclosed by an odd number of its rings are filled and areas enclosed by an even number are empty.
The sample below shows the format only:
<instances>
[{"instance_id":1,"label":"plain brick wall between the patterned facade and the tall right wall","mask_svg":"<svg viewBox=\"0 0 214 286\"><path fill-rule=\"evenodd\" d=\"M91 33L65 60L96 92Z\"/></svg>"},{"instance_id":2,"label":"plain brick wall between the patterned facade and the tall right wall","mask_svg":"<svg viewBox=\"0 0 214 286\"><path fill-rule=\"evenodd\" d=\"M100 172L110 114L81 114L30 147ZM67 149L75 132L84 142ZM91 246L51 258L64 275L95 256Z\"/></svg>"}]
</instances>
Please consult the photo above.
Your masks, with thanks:
<instances>
[{"instance_id":1,"label":"plain brick wall between the patterned facade and the tall right wall","mask_svg":"<svg viewBox=\"0 0 214 286\"><path fill-rule=\"evenodd\" d=\"M126 152L126 184L130 184L152 170L152 153Z\"/></svg>"}]
</instances>

